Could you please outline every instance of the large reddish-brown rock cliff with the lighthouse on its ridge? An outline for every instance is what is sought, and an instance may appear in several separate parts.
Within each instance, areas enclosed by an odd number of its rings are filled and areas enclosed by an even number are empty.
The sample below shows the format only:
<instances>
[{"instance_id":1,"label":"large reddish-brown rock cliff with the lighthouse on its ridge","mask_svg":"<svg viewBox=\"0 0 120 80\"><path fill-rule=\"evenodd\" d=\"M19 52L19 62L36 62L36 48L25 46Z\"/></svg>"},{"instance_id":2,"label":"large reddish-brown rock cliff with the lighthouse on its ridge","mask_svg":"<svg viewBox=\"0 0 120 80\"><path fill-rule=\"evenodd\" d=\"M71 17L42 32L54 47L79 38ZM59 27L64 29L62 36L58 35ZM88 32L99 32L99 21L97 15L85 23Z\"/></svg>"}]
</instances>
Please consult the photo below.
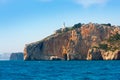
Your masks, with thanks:
<instances>
[{"instance_id":1,"label":"large reddish-brown rock cliff with the lighthouse on its ridge","mask_svg":"<svg viewBox=\"0 0 120 80\"><path fill-rule=\"evenodd\" d=\"M110 24L79 23L71 28L59 29L41 41L27 44L24 49L24 60L50 60L51 57L61 60L106 59L105 50L99 48L90 52L90 49L99 47L101 42L115 34L120 34L120 27Z\"/></svg>"}]
</instances>

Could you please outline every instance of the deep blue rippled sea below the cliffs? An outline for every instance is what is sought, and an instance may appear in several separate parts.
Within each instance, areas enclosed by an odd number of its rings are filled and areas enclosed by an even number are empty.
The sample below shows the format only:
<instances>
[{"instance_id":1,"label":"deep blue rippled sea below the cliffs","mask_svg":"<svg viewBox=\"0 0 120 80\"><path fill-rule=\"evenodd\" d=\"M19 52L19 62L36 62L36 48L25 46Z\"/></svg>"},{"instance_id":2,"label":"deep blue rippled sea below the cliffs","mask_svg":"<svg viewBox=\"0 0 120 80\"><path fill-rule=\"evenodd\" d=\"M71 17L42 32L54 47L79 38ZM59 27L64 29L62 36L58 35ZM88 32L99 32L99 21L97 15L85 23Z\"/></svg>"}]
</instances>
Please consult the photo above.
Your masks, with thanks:
<instances>
[{"instance_id":1,"label":"deep blue rippled sea below the cliffs","mask_svg":"<svg viewBox=\"0 0 120 80\"><path fill-rule=\"evenodd\" d=\"M120 61L0 61L0 80L120 80Z\"/></svg>"}]
</instances>

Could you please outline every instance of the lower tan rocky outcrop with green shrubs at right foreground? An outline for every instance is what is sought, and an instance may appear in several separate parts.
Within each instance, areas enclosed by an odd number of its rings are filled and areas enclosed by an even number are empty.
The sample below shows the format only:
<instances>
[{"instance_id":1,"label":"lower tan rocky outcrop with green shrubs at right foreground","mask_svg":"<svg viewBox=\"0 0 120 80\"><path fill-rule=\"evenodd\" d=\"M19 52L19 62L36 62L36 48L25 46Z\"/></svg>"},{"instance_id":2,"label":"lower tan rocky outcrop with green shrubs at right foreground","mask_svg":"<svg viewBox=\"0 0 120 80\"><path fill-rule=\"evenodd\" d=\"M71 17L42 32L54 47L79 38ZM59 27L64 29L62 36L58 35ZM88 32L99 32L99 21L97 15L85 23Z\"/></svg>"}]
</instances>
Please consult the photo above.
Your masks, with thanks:
<instances>
[{"instance_id":1,"label":"lower tan rocky outcrop with green shrubs at right foreground","mask_svg":"<svg viewBox=\"0 0 120 80\"><path fill-rule=\"evenodd\" d=\"M87 59L98 59L100 56L93 58L94 53L98 53L104 60L119 60L120 59L120 34L115 34L109 39L102 41L98 46L89 49Z\"/></svg>"}]
</instances>

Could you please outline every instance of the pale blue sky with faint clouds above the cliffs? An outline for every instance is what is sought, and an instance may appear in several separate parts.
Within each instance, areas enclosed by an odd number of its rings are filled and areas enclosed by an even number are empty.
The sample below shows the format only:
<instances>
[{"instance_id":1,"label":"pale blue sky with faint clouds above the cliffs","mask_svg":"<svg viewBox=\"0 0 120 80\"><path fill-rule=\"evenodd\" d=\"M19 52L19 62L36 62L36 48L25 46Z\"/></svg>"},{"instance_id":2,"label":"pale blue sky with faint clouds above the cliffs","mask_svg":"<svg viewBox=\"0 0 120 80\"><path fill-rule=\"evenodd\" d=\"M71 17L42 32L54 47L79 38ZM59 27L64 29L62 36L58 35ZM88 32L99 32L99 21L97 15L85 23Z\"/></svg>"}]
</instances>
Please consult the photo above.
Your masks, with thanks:
<instances>
[{"instance_id":1,"label":"pale blue sky with faint clouds above the cliffs","mask_svg":"<svg viewBox=\"0 0 120 80\"><path fill-rule=\"evenodd\" d=\"M76 23L120 25L120 0L0 0L0 53L23 52Z\"/></svg>"}]
</instances>

